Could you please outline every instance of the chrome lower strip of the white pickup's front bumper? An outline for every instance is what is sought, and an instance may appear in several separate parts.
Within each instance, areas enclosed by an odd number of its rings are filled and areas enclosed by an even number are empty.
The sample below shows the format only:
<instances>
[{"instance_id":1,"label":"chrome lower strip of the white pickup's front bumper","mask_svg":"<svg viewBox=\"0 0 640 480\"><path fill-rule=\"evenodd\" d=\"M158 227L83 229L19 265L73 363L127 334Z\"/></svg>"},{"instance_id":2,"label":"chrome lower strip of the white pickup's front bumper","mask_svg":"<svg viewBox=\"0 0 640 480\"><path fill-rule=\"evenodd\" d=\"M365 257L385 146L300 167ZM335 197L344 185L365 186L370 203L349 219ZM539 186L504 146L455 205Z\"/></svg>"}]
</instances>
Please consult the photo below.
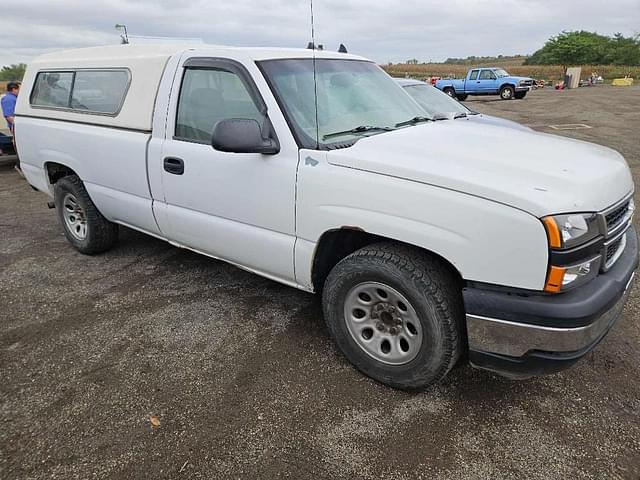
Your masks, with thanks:
<instances>
[{"instance_id":1,"label":"chrome lower strip of the white pickup's front bumper","mask_svg":"<svg viewBox=\"0 0 640 480\"><path fill-rule=\"evenodd\" d=\"M583 327L554 328L467 315L469 349L522 357L531 351L569 353L587 348L597 343L620 317L634 275L620 300L600 318Z\"/></svg>"}]
</instances>

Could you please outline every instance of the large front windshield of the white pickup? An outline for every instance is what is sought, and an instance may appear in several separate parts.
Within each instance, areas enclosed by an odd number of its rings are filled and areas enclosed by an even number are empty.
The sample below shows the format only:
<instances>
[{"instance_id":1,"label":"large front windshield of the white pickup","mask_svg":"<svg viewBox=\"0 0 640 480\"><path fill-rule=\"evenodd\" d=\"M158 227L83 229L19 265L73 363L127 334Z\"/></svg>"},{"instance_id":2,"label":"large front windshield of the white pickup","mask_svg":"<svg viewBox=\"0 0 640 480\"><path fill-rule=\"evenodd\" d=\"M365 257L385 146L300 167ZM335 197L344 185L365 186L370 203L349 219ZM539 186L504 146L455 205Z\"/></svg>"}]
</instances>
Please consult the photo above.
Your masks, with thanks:
<instances>
[{"instance_id":1,"label":"large front windshield of the white pickup","mask_svg":"<svg viewBox=\"0 0 640 480\"><path fill-rule=\"evenodd\" d=\"M420 106L371 62L316 59L317 112L313 59L267 60L259 65L305 148L353 143L424 117Z\"/></svg>"}]
</instances>

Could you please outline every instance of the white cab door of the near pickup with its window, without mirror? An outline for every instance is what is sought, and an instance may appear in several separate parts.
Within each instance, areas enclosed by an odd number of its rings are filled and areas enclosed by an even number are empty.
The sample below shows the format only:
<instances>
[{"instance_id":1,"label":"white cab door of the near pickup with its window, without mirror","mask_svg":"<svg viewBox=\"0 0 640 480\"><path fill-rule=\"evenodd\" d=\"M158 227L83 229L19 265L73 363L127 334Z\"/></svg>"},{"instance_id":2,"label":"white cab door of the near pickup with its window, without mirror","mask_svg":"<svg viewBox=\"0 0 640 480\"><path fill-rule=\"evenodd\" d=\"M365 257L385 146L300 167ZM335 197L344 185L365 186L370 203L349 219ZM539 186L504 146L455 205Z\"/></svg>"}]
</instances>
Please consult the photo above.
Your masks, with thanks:
<instances>
[{"instance_id":1,"label":"white cab door of the near pickup with its window, without mirror","mask_svg":"<svg viewBox=\"0 0 640 480\"><path fill-rule=\"evenodd\" d=\"M164 197L154 208L169 240L293 283L295 142L279 138L275 155L229 153L211 146L217 122L261 122L260 107L266 106L270 117L278 116L277 126L286 125L273 97L264 103L248 68L258 71L255 65L229 59L181 60L160 158L150 166L155 169L150 176L161 179Z\"/></svg>"}]
</instances>

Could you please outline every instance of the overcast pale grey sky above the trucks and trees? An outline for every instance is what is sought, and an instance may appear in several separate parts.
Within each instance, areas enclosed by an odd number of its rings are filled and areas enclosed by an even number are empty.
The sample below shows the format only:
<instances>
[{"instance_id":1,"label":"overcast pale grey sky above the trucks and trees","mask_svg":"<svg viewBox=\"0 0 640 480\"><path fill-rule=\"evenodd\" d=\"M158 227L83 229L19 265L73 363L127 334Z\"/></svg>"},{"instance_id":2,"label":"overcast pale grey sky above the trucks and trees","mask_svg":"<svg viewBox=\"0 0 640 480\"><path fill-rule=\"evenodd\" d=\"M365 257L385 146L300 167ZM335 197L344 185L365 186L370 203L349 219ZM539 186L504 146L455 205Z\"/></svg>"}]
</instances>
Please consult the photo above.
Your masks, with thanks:
<instances>
[{"instance_id":1,"label":"overcast pale grey sky above the trucks and trees","mask_svg":"<svg viewBox=\"0 0 640 480\"><path fill-rule=\"evenodd\" d=\"M640 32L640 0L314 0L316 40L380 63L532 53L562 30ZM0 10L0 65L129 33L303 47L308 0L17 0Z\"/></svg>"}]
</instances>

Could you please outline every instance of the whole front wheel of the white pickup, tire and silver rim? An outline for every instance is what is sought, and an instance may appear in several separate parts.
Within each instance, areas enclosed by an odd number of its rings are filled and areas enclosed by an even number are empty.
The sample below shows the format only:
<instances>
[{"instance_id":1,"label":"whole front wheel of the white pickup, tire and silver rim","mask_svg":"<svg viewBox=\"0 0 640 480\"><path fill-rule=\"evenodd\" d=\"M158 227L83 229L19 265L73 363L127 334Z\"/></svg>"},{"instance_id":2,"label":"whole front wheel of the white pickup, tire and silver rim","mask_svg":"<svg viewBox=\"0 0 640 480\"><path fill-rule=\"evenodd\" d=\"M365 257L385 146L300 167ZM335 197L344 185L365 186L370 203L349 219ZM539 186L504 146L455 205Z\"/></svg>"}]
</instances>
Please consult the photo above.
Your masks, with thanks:
<instances>
[{"instance_id":1,"label":"whole front wheel of the white pickup, tire and silver rim","mask_svg":"<svg viewBox=\"0 0 640 480\"><path fill-rule=\"evenodd\" d=\"M394 388L441 380L462 353L459 282L419 249L381 243L349 255L325 282L323 308L347 359Z\"/></svg>"}]
</instances>

